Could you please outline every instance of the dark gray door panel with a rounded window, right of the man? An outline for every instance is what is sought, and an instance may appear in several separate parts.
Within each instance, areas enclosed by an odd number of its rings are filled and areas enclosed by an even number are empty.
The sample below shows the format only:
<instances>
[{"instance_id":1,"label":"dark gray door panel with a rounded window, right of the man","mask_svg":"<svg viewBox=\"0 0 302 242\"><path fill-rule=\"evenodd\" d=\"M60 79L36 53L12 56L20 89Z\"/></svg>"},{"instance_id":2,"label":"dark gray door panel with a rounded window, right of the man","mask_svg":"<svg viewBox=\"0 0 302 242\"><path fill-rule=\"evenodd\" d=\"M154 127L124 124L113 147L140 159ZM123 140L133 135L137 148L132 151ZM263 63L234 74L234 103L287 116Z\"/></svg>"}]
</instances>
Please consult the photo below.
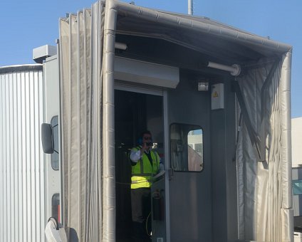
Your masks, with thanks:
<instances>
[{"instance_id":1,"label":"dark gray door panel with a rounded window, right of the man","mask_svg":"<svg viewBox=\"0 0 302 242\"><path fill-rule=\"evenodd\" d=\"M167 225L173 242L212 241L209 101L210 94L197 91L197 85L185 77L167 92L170 160L166 167L173 169L167 189Z\"/></svg>"}]
</instances>

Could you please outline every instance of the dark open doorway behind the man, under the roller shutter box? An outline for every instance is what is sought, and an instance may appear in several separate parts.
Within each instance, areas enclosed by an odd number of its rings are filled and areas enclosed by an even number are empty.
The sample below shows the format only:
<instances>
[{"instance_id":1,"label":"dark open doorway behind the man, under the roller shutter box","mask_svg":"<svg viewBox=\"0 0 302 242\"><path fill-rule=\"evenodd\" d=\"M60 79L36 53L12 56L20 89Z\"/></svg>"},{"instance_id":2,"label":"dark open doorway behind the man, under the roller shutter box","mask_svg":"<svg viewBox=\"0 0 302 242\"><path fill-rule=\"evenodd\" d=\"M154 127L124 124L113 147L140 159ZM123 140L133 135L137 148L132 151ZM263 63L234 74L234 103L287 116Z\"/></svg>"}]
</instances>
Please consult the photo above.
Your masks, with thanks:
<instances>
[{"instance_id":1,"label":"dark open doorway behind the man, under the roller shutter box","mask_svg":"<svg viewBox=\"0 0 302 242\"><path fill-rule=\"evenodd\" d=\"M154 149L163 159L162 96L115 90L116 241L132 241L129 152L144 130L150 130ZM162 160L163 162L163 160ZM151 222L151 221L150 221Z\"/></svg>"}]
</instances>

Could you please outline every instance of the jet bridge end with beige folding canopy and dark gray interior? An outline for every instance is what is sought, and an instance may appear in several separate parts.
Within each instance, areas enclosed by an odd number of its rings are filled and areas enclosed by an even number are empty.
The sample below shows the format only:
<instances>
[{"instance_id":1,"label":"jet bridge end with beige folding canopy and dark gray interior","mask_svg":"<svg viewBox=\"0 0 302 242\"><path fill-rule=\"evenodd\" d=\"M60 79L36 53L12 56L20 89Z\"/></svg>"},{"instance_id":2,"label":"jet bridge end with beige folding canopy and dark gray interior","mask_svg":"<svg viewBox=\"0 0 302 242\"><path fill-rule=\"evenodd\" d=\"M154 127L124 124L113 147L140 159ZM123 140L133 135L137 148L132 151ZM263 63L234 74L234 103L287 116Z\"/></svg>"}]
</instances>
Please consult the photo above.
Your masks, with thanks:
<instances>
[{"instance_id":1,"label":"jet bridge end with beige folding canopy and dark gray interior","mask_svg":"<svg viewBox=\"0 0 302 242\"><path fill-rule=\"evenodd\" d=\"M117 125L121 105L137 107L134 116L142 110L132 121L154 128L162 143L152 241L293 240L291 46L114 0L61 19L59 41L63 223L71 241L129 241L115 216L121 196L127 205L118 188L125 164L117 162L117 141L129 138ZM133 73L118 75L116 57ZM147 105L152 98L156 105ZM131 146L138 130L129 131L120 143Z\"/></svg>"}]
</instances>

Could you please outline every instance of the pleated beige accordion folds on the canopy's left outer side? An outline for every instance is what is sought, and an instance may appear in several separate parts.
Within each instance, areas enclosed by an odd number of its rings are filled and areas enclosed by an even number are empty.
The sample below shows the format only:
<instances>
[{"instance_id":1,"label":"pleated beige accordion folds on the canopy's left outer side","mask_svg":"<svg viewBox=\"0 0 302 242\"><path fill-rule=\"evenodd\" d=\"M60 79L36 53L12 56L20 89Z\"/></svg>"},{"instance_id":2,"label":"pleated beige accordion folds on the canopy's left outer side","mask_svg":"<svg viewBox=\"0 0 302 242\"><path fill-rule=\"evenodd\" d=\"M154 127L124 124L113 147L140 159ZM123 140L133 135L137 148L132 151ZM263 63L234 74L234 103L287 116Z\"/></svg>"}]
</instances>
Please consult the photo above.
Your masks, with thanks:
<instances>
[{"instance_id":1,"label":"pleated beige accordion folds on the canopy's left outer side","mask_svg":"<svg viewBox=\"0 0 302 242\"><path fill-rule=\"evenodd\" d=\"M102 240L103 6L60 19L63 222L69 241Z\"/></svg>"}]
</instances>

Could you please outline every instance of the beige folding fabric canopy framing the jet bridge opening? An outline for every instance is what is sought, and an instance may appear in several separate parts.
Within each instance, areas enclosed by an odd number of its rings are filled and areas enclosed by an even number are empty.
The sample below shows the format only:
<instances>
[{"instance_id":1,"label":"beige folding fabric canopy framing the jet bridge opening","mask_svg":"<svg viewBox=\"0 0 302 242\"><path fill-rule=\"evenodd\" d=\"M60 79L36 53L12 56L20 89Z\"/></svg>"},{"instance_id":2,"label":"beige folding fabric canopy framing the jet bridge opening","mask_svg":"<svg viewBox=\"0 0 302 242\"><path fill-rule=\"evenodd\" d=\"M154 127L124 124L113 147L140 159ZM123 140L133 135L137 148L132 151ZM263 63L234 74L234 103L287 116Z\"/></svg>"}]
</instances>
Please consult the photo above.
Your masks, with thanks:
<instances>
[{"instance_id":1,"label":"beige folding fabric canopy framing the jet bridge opening","mask_svg":"<svg viewBox=\"0 0 302 242\"><path fill-rule=\"evenodd\" d=\"M127 51L115 51L115 41L127 41ZM238 239L291 241L291 46L115 0L60 20L66 228L78 238L115 239L115 55L208 76L222 73L209 61L241 65L234 78L237 123L241 113L244 120L236 144Z\"/></svg>"}]
</instances>

